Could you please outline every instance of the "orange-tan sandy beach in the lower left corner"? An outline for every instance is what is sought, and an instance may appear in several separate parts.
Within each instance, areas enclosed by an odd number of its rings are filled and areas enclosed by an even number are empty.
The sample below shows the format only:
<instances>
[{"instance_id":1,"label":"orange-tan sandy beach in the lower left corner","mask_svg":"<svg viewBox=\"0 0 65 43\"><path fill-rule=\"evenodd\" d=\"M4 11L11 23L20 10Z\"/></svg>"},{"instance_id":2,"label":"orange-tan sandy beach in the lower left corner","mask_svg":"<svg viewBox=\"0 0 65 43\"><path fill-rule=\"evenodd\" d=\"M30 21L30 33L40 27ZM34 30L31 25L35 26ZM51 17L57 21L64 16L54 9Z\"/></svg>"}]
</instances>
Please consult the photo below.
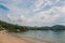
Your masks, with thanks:
<instances>
[{"instance_id":1,"label":"orange-tan sandy beach in the lower left corner","mask_svg":"<svg viewBox=\"0 0 65 43\"><path fill-rule=\"evenodd\" d=\"M36 40L31 39L22 39L16 35L12 35L10 33L6 33L5 31L0 31L0 43L40 43L39 41L37 42ZM41 43L47 43L47 42L41 42Z\"/></svg>"}]
</instances>

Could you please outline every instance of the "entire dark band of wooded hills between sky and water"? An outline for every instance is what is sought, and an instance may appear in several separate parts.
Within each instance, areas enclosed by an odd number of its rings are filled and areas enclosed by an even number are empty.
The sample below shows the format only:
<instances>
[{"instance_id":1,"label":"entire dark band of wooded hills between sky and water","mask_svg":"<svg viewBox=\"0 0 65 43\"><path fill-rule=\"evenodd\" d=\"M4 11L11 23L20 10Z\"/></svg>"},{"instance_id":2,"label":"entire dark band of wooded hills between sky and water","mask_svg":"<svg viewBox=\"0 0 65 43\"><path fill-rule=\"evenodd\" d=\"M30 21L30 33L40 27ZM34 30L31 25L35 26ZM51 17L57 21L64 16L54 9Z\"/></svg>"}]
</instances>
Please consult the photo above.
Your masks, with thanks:
<instances>
[{"instance_id":1,"label":"entire dark band of wooded hills between sky and water","mask_svg":"<svg viewBox=\"0 0 65 43\"><path fill-rule=\"evenodd\" d=\"M65 26L63 25L55 25L52 27L28 27L28 26L18 26L9 24L5 22L0 20L0 30L8 30L8 31L27 31L27 30L65 30Z\"/></svg>"}]
</instances>

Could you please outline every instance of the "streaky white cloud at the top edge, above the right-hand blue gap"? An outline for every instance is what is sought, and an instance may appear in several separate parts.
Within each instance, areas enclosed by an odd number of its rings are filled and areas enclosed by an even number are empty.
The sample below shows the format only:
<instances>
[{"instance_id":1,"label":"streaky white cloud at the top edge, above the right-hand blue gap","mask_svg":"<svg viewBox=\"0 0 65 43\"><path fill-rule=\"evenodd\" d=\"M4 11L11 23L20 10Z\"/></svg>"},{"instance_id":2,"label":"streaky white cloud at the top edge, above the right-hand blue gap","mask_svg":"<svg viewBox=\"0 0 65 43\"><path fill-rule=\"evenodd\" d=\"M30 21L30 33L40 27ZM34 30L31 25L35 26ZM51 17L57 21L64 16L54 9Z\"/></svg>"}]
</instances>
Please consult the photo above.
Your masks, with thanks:
<instances>
[{"instance_id":1,"label":"streaky white cloud at the top edge, above the right-hand blue gap","mask_svg":"<svg viewBox=\"0 0 65 43\"><path fill-rule=\"evenodd\" d=\"M35 2L35 5L32 5L32 9L31 10L34 12L37 12L37 11L42 10L42 8L44 8L46 5L54 5L57 2L60 2L60 0L37 0Z\"/></svg>"}]
</instances>

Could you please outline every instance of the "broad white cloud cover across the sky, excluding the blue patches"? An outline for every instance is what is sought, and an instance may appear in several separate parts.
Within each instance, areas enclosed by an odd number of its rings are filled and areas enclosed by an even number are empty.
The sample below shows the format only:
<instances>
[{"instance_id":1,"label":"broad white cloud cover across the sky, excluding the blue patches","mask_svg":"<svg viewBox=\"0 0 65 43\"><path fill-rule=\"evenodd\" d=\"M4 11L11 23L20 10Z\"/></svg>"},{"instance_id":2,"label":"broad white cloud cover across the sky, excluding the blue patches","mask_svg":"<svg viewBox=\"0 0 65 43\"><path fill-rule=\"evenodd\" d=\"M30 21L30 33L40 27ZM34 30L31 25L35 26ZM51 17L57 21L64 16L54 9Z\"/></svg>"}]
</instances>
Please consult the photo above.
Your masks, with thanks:
<instances>
[{"instance_id":1,"label":"broad white cloud cover across the sky, excluding the blue patches","mask_svg":"<svg viewBox=\"0 0 65 43\"><path fill-rule=\"evenodd\" d=\"M17 6L17 4L22 4L23 1L24 0L9 0L8 1L9 4L3 3L3 5L10 9L10 12L9 14L6 14L6 17L11 19L11 22L28 26L35 26L35 25L51 26L55 25L56 23L61 23L61 18L65 18L65 5L62 6L54 5L55 3L60 2L60 0L37 0L35 1L34 5L30 4L31 5L30 9L24 8L24 5L22 5L23 8ZM46 5L52 5L52 6L50 10L41 11ZM30 15L30 17L28 17L28 15ZM62 22L65 22L65 19L62 19Z\"/></svg>"}]
</instances>

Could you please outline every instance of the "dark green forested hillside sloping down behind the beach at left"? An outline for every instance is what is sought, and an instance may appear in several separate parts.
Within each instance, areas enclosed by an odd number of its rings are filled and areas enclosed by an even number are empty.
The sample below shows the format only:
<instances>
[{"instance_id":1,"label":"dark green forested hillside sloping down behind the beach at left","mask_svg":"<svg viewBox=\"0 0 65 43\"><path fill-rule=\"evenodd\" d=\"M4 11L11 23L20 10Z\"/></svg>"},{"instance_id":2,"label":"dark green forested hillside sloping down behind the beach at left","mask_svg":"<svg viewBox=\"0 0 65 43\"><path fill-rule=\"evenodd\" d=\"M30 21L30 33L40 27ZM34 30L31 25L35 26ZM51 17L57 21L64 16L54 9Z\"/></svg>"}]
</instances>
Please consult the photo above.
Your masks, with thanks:
<instances>
[{"instance_id":1,"label":"dark green forested hillside sloping down behind the beach at left","mask_svg":"<svg viewBox=\"0 0 65 43\"><path fill-rule=\"evenodd\" d=\"M13 25L13 24L9 24L9 23L0 20L0 30L8 30L8 31L16 32L16 31L26 31L28 30L28 28L25 26Z\"/></svg>"}]
</instances>

